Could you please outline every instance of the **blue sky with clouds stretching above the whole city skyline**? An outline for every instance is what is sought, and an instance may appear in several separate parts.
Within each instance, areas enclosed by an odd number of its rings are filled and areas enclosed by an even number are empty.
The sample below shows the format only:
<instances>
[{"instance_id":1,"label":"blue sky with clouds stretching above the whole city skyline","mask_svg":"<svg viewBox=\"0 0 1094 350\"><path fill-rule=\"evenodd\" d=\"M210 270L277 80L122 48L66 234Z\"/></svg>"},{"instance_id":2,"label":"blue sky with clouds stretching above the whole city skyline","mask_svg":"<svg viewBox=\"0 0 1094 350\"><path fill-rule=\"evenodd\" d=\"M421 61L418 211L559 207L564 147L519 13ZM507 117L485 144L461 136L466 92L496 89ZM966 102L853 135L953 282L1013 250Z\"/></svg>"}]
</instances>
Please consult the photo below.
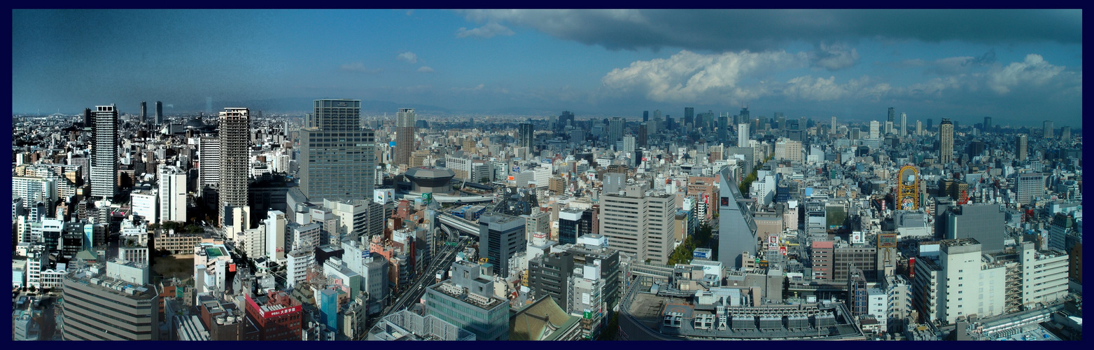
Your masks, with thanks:
<instances>
[{"instance_id":1,"label":"blue sky with clouds stretching above the whole city skyline","mask_svg":"<svg viewBox=\"0 0 1094 350\"><path fill-rule=\"evenodd\" d=\"M358 98L1081 127L1082 68L1081 10L12 11L13 114Z\"/></svg>"}]
</instances>

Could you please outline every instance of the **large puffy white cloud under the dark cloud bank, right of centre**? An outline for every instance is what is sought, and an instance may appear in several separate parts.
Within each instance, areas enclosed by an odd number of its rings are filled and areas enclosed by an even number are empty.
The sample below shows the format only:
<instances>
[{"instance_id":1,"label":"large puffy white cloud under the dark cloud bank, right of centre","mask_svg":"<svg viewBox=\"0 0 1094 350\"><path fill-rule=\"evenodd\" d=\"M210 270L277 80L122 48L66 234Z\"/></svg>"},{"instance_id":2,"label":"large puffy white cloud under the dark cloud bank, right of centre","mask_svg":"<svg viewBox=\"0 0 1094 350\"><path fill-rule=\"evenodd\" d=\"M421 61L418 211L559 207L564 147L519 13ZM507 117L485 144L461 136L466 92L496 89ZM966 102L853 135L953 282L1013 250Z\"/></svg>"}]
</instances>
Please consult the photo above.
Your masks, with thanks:
<instances>
[{"instance_id":1,"label":"large puffy white cloud under the dark cloud bank, right of centre","mask_svg":"<svg viewBox=\"0 0 1094 350\"><path fill-rule=\"evenodd\" d=\"M805 52L724 52L702 55L682 50L667 59L636 61L617 68L601 79L604 88L616 92L636 91L655 102L693 103L698 101L736 104L770 93L763 82L745 86L752 78L776 70L801 68ZM730 101L724 101L724 100Z\"/></svg>"}]
</instances>

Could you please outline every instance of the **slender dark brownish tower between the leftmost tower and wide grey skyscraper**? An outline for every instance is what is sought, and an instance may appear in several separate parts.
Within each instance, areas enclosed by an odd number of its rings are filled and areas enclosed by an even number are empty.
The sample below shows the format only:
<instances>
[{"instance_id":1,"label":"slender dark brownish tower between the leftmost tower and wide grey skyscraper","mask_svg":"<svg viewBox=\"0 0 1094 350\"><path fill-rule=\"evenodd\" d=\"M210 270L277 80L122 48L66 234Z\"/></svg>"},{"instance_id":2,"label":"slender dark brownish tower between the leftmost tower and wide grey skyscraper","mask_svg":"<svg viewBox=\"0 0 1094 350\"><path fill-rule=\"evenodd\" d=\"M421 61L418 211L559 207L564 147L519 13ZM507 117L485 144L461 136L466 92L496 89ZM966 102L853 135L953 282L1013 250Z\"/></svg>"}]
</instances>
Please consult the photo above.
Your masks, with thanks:
<instances>
[{"instance_id":1,"label":"slender dark brownish tower between the leftmost tower and wide grey skyscraper","mask_svg":"<svg viewBox=\"0 0 1094 350\"><path fill-rule=\"evenodd\" d=\"M220 113L220 202L217 213L224 222L225 207L247 206L247 178L251 167L251 110L224 108ZM229 212L230 213L230 212ZM238 218L236 218L238 219ZM242 218L241 222L247 222Z\"/></svg>"}]
</instances>

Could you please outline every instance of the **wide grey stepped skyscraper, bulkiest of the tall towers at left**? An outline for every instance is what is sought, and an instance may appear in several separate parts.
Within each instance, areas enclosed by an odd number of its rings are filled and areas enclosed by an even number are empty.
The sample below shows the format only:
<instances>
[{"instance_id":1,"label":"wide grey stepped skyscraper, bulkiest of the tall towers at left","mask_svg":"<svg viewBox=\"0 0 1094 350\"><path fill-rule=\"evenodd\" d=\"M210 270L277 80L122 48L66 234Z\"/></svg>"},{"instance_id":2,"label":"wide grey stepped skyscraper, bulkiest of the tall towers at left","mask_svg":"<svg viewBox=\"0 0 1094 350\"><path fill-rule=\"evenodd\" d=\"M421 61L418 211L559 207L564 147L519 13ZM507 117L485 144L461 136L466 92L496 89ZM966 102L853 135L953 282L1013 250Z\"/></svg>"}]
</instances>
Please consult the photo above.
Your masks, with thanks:
<instances>
[{"instance_id":1,"label":"wide grey stepped skyscraper, bulkiest of the tall towers at left","mask_svg":"<svg viewBox=\"0 0 1094 350\"><path fill-rule=\"evenodd\" d=\"M300 129L300 190L309 200L371 199L376 135L362 129L360 100L316 100Z\"/></svg>"}]
</instances>

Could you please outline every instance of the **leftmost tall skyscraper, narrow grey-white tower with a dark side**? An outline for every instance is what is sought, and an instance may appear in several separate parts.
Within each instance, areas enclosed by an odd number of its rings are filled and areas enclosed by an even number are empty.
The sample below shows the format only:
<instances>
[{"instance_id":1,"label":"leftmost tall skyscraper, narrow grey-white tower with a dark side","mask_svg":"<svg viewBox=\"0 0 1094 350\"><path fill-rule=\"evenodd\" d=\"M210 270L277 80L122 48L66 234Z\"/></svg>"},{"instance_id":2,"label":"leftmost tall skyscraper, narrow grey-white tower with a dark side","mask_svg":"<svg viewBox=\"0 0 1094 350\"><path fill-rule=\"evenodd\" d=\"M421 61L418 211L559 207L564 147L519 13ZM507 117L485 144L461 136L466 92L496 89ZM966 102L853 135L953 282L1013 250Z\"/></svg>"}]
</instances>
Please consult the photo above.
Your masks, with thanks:
<instances>
[{"instance_id":1,"label":"leftmost tall skyscraper, narrow grey-white tower with a dark side","mask_svg":"<svg viewBox=\"0 0 1094 350\"><path fill-rule=\"evenodd\" d=\"M118 110L114 105L91 112L91 196L114 199L118 172Z\"/></svg>"}]
</instances>

